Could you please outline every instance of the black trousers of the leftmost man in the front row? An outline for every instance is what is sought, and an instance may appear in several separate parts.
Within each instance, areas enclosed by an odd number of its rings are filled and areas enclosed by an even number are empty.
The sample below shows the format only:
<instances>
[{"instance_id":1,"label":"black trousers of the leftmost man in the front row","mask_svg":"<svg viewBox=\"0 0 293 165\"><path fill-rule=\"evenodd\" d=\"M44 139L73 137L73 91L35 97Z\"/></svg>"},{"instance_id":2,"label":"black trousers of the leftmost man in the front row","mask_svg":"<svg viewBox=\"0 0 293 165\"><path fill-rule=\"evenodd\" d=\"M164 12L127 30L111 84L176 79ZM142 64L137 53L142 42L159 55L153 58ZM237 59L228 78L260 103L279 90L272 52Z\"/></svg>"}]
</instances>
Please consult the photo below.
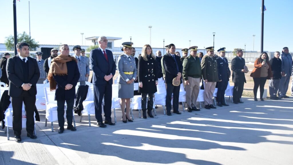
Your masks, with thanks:
<instances>
[{"instance_id":1,"label":"black trousers of the leftmost man in the front row","mask_svg":"<svg viewBox=\"0 0 293 165\"><path fill-rule=\"evenodd\" d=\"M22 129L22 104L25 107L26 131L33 133L35 127L34 110L36 96L31 96L28 91L23 90L20 97L11 97L13 108L12 127L15 136L21 135Z\"/></svg>"}]
</instances>

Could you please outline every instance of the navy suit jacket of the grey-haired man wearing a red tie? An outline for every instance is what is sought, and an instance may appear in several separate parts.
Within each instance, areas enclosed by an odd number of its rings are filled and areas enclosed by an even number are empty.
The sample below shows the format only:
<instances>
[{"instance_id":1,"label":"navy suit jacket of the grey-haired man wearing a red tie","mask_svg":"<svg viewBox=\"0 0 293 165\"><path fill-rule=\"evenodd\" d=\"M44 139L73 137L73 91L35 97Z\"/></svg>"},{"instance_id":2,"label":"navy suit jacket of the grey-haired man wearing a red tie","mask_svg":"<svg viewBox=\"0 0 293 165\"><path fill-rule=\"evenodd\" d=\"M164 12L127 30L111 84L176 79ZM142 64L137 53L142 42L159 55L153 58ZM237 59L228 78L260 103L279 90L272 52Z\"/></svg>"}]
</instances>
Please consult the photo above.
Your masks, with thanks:
<instances>
[{"instance_id":1,"label":"navy suit jacket of the grey-haired man wearing a red tie","mask_svg":"<svg viewBox=\"0 0 293 165\"><path fill-rule=\"evenodd\" d=\"M113 77L116 73L116 64L113 59L113 53L106 50L108 62L100 48L93 49L90 52L91 66L93 70L93 85L104 85L106 83L113 84L113 78L108 82L104 79L105 75L112 73Z\"/></svg>"}]
</instances>

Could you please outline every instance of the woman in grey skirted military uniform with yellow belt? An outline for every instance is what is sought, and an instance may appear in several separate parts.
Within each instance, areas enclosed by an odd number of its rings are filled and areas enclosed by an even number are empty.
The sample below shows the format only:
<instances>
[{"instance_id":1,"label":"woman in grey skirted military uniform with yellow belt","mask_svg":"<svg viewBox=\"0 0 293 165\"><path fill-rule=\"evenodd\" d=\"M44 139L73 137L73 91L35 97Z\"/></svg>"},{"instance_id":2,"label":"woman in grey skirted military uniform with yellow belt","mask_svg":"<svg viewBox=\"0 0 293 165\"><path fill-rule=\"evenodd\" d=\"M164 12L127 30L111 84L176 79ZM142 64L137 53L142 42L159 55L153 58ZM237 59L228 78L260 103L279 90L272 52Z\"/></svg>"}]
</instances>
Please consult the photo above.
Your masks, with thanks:
<instances>
[{"instance_id":1,"label":"woman in grey skirted military uniform with yellow belt","mask_svg":"<svg viewBox=\"0 0 293 165\"><path fill-rule=\"evenodd\" d=\"M131 56L132 42L122 43L124 54L118 58L119 76L117 82L119 83L118 97L121 98L120 106L122 110L122 121L124 123L133 122L130 119L130 99L133 97L134 80L137 75L135 59ZM124 112L126 104L126 114Z\"/></svg>"}]
</instances>

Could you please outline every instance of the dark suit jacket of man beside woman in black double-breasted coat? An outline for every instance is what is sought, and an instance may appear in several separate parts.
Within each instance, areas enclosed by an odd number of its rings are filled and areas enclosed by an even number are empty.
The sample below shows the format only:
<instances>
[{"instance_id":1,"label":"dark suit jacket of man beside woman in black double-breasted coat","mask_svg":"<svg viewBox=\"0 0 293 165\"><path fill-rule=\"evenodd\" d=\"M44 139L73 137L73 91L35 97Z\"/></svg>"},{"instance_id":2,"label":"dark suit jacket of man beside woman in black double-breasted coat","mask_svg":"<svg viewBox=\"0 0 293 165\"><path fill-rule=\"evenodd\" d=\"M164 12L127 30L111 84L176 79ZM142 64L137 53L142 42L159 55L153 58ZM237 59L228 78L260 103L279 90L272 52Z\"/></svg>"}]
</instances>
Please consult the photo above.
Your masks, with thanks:
<instances>
[{"instance_id":1,"label":"dark suit jacket of man beside woman in black double-breasted coat","mask_svg":"<svg viewBox=\"0 0 293 165\"><path fill-rule=\"evenodd\" d=\"M171 54L164 56L163 66L165 69L165 83L172 83L172 80L177 77L178 72L182 74L183 66L180 57L175 55L175 59L178 65L178 71L176 67L176 62ZM180 83L182 83L182 78L180 78Z\"/></svg>"}]
</instances>

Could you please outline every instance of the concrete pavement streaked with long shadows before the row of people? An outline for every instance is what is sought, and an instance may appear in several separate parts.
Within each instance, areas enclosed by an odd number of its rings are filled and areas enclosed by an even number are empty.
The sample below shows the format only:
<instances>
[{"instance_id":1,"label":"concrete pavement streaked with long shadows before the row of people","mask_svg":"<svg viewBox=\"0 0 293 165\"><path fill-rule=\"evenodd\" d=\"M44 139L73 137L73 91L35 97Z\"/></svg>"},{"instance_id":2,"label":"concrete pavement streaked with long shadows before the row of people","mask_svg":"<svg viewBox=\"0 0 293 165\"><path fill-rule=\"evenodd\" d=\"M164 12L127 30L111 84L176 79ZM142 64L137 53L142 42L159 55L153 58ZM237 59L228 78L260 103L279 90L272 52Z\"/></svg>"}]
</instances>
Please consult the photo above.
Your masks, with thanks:
<instances>
[{"instance_id":1,"label":"concrete pavement streaked with long shadows before the row of people","mask_svg":"<svg viewBox=\"0 0 293 165\"><path fill-rule=\"evenodd\" d=\"M94 116L88 126L75 115L77 131L65 129L58 134L51 124L45 127L45 111L39 111L37 139L26 137L14 142L0 131L0 164L293 164L293 97L255 102L243 98L243 104L181 115L163 115L156 109L155 118L138 118L99 128ZM202 106L203 107L203 106ZM172 113L173 114L173 113ZM112 113L113 115L113 113ZM113 117L113 116L112 116ZM114 121L114 117L112 118ZM66 128L66 127L65 127Z\"/></svg>"}]
</instances>

